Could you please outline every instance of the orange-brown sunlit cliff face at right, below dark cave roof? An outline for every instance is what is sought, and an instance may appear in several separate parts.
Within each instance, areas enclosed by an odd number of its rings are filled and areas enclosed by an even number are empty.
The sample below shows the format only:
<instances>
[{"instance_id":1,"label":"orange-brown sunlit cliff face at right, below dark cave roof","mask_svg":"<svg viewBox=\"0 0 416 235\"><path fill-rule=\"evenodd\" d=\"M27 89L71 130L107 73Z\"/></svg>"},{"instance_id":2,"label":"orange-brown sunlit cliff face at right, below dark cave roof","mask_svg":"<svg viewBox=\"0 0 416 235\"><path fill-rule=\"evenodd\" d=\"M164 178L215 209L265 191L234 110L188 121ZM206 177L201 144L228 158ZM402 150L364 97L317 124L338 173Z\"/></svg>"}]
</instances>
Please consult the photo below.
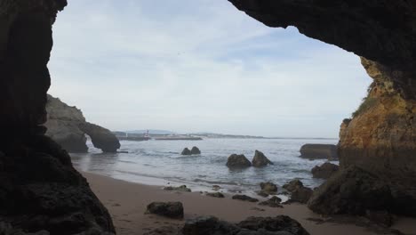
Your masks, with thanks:
<instances>
[{"instance_id":1,"label":"orange-brown sunlit cliff face at right, below dark cave roof","mask_svg":"<svg viewBox=\"0 0 416 235\"><path fill-rule=\"evenodd\" d=\"M362 63L374 81L354 118L341 125L340 165L416 182L415 76L364 58Z\"/></svg>"}]
</instances>

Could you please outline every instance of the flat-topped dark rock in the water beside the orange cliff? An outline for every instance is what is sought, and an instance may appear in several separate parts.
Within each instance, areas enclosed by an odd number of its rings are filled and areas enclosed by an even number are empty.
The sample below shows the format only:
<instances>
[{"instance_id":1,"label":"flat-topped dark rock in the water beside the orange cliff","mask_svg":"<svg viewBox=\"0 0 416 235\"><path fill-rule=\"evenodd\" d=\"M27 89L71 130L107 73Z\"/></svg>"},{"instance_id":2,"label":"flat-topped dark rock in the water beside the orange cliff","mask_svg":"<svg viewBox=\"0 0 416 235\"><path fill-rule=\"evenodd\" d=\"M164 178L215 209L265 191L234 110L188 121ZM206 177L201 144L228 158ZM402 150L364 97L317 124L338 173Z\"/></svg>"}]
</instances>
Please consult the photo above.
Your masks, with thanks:
<instances>
[{"instance_id":1,"label":"flat-topped dark rock in the water beside the orange cliff","mask_svg":"<svg viewBox=\"0 0 416 235\"><path fill-rule=\"evenodd\" d=\"M300 157L309 159L338 159L337 146L334 144L307 143L300 148Z\"/></svg>"}]
</instances>

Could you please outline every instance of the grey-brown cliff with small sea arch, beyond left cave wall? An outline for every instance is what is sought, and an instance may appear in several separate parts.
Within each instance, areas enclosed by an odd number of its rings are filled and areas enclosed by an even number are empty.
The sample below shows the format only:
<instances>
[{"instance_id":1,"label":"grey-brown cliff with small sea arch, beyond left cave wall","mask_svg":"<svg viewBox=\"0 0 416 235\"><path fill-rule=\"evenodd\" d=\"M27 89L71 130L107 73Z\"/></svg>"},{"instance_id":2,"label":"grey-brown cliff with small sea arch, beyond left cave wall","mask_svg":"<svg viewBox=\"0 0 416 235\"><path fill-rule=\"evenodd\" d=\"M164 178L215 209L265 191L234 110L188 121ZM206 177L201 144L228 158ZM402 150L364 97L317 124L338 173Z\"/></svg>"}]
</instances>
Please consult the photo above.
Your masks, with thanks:
<instances>
[{"instance_id":1,"label":"grey-brown cliff with small sea arch, beyond left cave wall","mask_svg":"<svg viewBox=\"0 0 416 235\"><path fill-rule=\"evenodd\" d=\"M60 99L48 95L46 110L46 135L60 143L68 152L88 151L85 134L91 137L94 147L104 152L116 152L120 148L116 135L106 128L87 122L80 109L68 106Z\"/></svg>"}]
</instances>

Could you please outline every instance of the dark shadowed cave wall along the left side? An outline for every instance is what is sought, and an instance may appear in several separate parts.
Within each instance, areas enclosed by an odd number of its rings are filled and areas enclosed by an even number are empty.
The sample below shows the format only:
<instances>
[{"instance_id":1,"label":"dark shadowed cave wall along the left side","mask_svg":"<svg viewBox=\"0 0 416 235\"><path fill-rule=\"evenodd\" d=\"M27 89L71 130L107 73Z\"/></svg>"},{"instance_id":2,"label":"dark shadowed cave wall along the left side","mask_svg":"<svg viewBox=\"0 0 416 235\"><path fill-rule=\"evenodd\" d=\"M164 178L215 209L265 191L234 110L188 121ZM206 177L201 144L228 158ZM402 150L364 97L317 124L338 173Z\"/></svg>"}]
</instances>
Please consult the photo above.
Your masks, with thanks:
<instances>
[{"instance_id":1,"label":"dark shadowed cave wall along the left side","mask_svg":"<svg viewBox=\"0 0 416 235\"><path fill-rule=\"evenodd\" d=\"M41 126L50 86L52 23L66 4L0 0L0 227L7 228L0 233L115 231L68 153Z\"/></svg>"}]
</instances>

